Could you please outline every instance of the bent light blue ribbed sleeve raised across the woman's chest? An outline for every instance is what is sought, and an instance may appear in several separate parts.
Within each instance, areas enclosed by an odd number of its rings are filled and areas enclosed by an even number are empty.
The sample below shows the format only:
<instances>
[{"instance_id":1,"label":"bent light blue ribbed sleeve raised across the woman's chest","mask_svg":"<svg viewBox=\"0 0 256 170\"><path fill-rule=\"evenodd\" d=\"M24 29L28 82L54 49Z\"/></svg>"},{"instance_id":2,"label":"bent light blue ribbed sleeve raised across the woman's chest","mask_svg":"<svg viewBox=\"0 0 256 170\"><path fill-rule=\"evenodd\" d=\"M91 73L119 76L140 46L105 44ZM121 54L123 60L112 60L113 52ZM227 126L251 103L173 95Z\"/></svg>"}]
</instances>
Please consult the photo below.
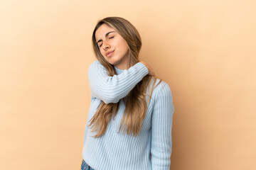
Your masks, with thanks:
<instances>
[{"instance_id":1,"label":"bent light blue ribbed sleeve raised across the woman's chest","mask_svg":"<svg viewBox=\"0 0 256 170\"><path fill-rule=\"evenodd\" d=\"M110 77L105 67L96 60L87 70L91 97L98 98L104 103L117 103L148 73L146 66L138 62L124 72Z\"/></svg>"}]
</instances>

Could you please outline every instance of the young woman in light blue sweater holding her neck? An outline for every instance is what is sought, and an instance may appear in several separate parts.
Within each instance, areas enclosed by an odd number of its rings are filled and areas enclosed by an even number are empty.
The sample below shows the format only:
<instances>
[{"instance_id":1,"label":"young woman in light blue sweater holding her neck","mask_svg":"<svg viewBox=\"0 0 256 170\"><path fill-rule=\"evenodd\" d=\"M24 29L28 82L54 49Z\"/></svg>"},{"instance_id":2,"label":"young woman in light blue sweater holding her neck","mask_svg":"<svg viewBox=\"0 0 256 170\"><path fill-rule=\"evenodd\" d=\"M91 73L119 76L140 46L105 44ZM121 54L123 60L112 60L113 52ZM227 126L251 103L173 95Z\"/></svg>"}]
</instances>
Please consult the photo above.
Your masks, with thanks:
<instances>
[{"instance_id":1,"label":"young woman in light blue sweater holding her neck","mask_svg":"<svg viewBox=\"0 0 256 170\"><path fill-rule=\"evenodd\" d=\"M81 169L169 170L171 89L140 61L137 29L124 18L104 18L92 46L97 60L87 70L91 101Z\"/></svg>"}]
</instances>

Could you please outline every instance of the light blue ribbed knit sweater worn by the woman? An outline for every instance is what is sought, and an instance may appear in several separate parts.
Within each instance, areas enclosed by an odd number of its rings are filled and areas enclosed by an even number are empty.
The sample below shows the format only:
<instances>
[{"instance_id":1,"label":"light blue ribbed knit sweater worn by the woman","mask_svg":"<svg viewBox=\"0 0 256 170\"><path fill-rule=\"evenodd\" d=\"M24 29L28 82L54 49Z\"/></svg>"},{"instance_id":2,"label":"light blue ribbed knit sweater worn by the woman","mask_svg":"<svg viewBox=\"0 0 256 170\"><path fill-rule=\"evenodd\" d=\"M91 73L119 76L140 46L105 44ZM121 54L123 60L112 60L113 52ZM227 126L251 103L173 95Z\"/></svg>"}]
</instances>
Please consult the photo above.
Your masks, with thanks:
<instances>
[{"instance_id":1,"label":"light blue ribbed knit sweater worn by the woman","mask_svg":"<svg viewBox=\"0 0 256 170\"><path fill-rule=\"evenodd\" d=\"M164 81L156 86L147 103L139 135L132 136L122 131L118 133L124 113L122 98L129 94L136 84L149 73L144 64L138 62L129 69L117 69L117 75L110 77L99 61L92 62L87 70L90 84L90 109L87 114L82 158L92 169L103 170L169 170L171 164L171 128L174 106L171 89ZM153 81L151 81L153 82ZM157 79L156 84L159 82ZM155 84L155 85L156 85ZM150 93L150 89L146 91ZM146 102L148 97L146 96ZM119 110L110 120L101 137L92 137L87 127L89 120L100 103L119 103Z\"/></svg>"}]
</instances>

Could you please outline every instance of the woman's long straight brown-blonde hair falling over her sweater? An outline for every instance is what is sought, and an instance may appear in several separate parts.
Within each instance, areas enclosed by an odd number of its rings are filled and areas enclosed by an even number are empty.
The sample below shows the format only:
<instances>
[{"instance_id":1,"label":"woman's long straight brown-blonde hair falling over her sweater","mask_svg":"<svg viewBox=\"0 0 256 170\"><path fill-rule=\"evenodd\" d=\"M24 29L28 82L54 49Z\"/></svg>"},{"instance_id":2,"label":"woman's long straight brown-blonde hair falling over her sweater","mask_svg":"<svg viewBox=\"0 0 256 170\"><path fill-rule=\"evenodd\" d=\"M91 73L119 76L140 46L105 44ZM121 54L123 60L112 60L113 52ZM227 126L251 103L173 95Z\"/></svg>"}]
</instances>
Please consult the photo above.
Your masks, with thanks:
<instances>
[{"instance_id":1,"label":"woman's long straight brown-blonde hair falling over her sweater","mask_svg":"<svg viewBox=\"0 0 256 170\"><path fill-rule=\"evenodd\" d=\"M132 23L125 20L124 18L107 17L98 21L92 33L92 48L95 52L97 60L105 67L107 73L111 77L113 77L114 74L117 74L117 72L115 71L113 65L107 62L105 58L101 55L95 38L95 32L97 28L102 26L102 24L104 23L107 24L107 26L116 30L117 33L119 33L119 35L121 35L122 38L124 38L124 40L127 42L129 49L129 67L132 67L134 64L137 64L137 62L139 62L139 51L142 47L142 40L137 29L132 25ZM150 95L147 95L146 89L149 86L149 82L153 78L154 83L151 86ZM154 84L156 82L156 79L156 77L152 77L151 75L147 74L142 79L142 81L140 81L134 87L134 89L132 89L132 91L130 91L129 94L123 98L125 110L120 123L119 132L122 129L123 133L126 131L127 134L134 136L139 134L147 108L145 95L149 96L149 99L151 98L151 94L155 87ZM161 79L159 83L160 82ZM156 86L158 84L156 84ZM117 114L119 102L106 104L102 101L100 103L100 106L97 108L96 113L90 120L89 127L92 128L92 132L97 131L96 135L94 135L93 137L100 137L105 133L109 121Z\"/></svg>"}]
</instances>

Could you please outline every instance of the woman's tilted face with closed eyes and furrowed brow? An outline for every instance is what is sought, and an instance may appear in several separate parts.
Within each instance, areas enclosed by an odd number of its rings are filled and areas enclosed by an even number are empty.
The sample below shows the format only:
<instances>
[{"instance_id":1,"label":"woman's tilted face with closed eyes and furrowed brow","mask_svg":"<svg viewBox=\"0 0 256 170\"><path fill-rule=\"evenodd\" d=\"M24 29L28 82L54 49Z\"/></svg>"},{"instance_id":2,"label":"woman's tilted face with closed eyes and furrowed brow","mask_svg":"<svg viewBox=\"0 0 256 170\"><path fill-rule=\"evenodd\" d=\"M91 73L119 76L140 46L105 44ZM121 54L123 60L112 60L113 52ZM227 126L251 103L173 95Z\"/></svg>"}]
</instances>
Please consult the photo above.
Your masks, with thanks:
<instances>
[{"instance_id":1,"label":"woman's tilted face with closed eyes and furrowed brow","mask_svg":"<svg viewBox=\"0 0 256 170\"><path fill-rule=\"evenodd\" d=\"M118 69L128 69L129 49L127 42L116 30L104 23L96 30L95 38L100 53L107 62Z\"/></svg>"}]
</instances>

